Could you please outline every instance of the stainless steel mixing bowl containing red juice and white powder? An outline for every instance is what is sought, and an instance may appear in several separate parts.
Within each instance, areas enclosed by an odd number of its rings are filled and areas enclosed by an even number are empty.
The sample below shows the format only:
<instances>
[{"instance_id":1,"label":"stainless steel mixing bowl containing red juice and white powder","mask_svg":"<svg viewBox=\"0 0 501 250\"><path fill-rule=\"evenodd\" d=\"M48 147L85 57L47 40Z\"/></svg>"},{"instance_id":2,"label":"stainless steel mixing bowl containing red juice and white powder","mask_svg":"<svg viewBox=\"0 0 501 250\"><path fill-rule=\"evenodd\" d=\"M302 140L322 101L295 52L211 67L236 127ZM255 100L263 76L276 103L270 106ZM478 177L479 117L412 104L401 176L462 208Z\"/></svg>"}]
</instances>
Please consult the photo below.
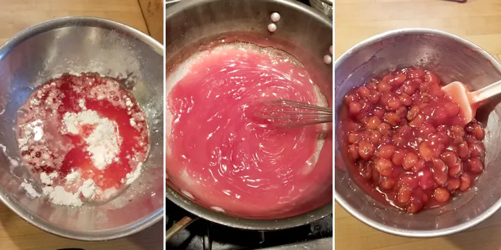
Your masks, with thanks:
<instances>
[{"instance_id":1,"label":"stainless steel mixing bowl containing red juice and white powder","mask_svg":"<svg viewBox=\"0 0 501 250\"><path fill-rule=\"evenodd\" d=\"M109 240L141 231L163 216L164 59L161 44L134 28L93 17L38 24L0 47L0 200L27 222L79 240ZM125 77L148 117L150 156L141 177L119 197L81 208L31 199L19 186L30 174L19 161L16 110L41 83L63 73ZM13 161L15 160L15 161Z\"/></svg>"}]
</instances>

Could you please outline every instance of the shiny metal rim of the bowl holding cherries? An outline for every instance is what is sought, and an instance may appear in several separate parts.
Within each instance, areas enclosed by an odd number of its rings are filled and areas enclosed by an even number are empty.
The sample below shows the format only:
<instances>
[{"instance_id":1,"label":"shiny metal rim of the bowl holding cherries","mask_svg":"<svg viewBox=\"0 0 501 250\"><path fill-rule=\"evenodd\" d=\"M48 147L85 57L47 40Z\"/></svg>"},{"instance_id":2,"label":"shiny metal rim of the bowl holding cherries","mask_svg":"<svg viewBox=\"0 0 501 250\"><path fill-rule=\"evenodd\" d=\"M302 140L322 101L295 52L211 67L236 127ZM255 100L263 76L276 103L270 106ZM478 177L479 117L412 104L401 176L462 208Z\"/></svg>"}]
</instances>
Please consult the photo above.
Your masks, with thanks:
<instances>
[{"instance_id":1,"label":"shiny metal rim of the bowl holding cherries","mask_svg":"<svg viewBox=\"0 0 501 250\"><path fill-rule=\"evenodd\" d=\"M355 46L351 47L348 49L346 52L344 52L337 60L335 60L335 66L334 69L337 68L338 65L341 65L344 60L347 60L349 56L352 53L358 52L360 49L363 47L367 46L368 44L373 44L374 42L379 42L380 40L383 40L385 38L391 38L395 37L398 35L415 35L415 34L423 34L423 35L438 35L438 36L443 36L445 38L450 38L452 40L455 40L456 42L460 42L461 44L464 44L466 47L470 47L472 49L475 49L475 51L479 52L489 60L489 62L496 68L498 69L499 72L501 72L501 64L498 62L498 60L495 60L491 54L487 53L484 49L480 48L477 44L474 44L464 38L459 37L458 35L453 35L451 33L447 33L445 31L439 31L436 29L431 29L431 28L401 28L401 29L396 29L392 31L387 31L384 33L381 33L379 35L374 35L371 38L367 38L366 40L363 40L362 42L359 42ZM335 188L334 188L335 189ZM488 208L487 210L484 211L484 213L478 215L475 218L469 219L466 222L463 222L462 224L456 225L456 226L450 226L448 228L442 228L442 229L437 229L437 230L411 230L411 229L397 229L393 228L391 226L386 226L385 224L381 224L379 222L374 221L374 219L370 219L369 217L363 215L363 213L359 213L356 211L353 206L350 206L349 203L343 198L340 197L339 194L337 194L337 191L334 190L334 199L337 201L338 204L344 210L346 210L350 215L353 217L356 217L360 222L363 222L364 224L367 224L367 226L371 226L372 228L376 228L379 231L383 231L385 233L390 233L393 235L399 235L399 236L405 236L405 237L411 237L411 238L433 238L433 237L439 237L439 236L445 236L445 235L452 235L454 233L459 233L461 231L465 231L468 228L471 228L473 226L476 226L477 224L484 222L488 217L491 217L494 213L496 213L498 210L501 208L501 198L496 201L493 206Z\"/></svg>"}]
</instances>

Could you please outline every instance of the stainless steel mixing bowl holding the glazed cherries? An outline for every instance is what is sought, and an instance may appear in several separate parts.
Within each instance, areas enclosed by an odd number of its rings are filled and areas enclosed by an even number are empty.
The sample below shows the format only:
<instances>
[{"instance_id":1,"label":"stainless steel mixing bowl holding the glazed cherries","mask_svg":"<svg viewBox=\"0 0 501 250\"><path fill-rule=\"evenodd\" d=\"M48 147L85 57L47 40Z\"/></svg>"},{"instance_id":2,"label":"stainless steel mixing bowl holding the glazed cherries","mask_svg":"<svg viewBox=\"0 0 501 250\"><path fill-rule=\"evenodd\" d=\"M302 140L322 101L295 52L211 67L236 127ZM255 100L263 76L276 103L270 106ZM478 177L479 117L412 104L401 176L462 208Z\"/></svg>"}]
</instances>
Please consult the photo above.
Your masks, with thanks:
<instances>
[{"instance_id":1,"label":"stainless steel mixing bowl holding the glazed cherries","mask_svg":"<svg viewBox=\"0 0 501 250\"><path fill-rule=\"evenodd\" d=\"M407 28L369 38L335 62L335 109L347 92L388 69L422 66L436 72L443 83L461 81L477 90L501 78L501 65L477 45L442 31ZM501 207L500 99L477 113L486 125L486 167L474 187L450 204L416 215L401 213L375 201L353 183L345 143L336 132L335 200L351 215L386 233L409 237L449 235L475 226ZM338 124L337 113L335 122Z\"/></svg>"}]
</instances>

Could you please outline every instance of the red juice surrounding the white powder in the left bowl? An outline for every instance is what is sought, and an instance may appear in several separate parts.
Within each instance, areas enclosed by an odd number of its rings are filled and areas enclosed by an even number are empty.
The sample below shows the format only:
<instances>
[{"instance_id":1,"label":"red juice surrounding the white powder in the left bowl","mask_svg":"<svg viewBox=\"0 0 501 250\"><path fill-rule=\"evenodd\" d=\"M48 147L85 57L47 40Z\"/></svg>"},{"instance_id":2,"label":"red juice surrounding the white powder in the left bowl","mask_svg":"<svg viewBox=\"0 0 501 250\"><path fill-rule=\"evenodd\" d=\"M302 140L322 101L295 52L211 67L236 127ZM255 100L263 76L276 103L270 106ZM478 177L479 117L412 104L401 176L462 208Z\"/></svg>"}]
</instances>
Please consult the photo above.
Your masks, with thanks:
<instances>
[{"instance_id":1,"label":"red juice surrounding the white powder in the left bowl","mask_svg":"<svg viewBox=\"0 0 501 250\"><path fill-rule=\"evenodd\" d=\"M79 126L78 134L64 132L65 114L85 110L111 120L118 134L118 154L104 169L93 164L84 140L96 126ZM25 165L35 178L42 172L57 173L54 185L64 186L67 174L80 172L81 180L93 179L102 190L120 190L127 173L145 160L149 149L146 117L132 94L115 79L97 74L66 74L40 85L19 108L17 124L18 138L27 140L21 148Z\"/></svg>"}]
</instances>

